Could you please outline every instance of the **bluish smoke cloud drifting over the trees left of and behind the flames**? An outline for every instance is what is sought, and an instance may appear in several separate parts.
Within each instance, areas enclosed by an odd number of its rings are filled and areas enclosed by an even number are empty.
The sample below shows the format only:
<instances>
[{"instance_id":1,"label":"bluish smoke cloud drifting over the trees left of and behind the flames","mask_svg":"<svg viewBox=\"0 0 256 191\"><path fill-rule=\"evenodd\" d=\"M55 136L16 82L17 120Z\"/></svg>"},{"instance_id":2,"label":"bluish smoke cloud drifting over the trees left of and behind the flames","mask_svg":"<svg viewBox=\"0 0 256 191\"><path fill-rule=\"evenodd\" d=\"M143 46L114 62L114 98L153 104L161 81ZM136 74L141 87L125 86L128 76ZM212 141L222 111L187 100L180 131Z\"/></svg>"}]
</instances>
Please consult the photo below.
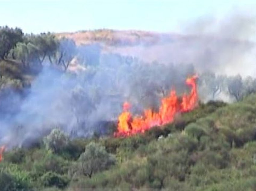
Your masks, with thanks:
<instances>
[{"instance_id":1,"label":"bluish smoke cloud drifting over the trees left of and behind the flames","mask_svg":"<svg viewBox=\"0 0 256 191\"><path fill-rule=\"evenodd\" d=\"M98 65L88 65L77 74L45 66L24 98L15 93L2 96L6 105L0 106L5 113L0 120L1 142L22 145L55 127L72 136L92 136L100 121L117 120L124 101L138 114L144 108L158 108L171 88L186 90L186 77L194 74L191 65L127 61L116 54L101 54L98 59ZM17 99L15 105L10 99ZM16 111L9 114L5 109L9 107Z\"/></svg>"}]
</instances>

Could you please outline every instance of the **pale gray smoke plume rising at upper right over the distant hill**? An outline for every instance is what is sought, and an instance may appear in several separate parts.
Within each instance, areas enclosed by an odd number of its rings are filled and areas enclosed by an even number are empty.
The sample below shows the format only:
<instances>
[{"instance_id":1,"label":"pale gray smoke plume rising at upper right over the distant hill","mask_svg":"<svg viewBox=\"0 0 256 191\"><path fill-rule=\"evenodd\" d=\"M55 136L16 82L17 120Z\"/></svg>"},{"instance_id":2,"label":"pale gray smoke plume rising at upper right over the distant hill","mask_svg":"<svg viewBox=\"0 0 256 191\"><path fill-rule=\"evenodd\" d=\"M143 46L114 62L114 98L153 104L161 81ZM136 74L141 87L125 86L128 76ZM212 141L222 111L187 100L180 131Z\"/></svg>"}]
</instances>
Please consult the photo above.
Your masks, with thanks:
<instances>
[{"instance_id":1,"label":"pale gray smoke plume rising at upper right over the distant hill","mask_svg":"<svg viewBox=\"0 0 256 191\"><path fill-rule=\"evenodd\" d=\"M152 46L111 51L133 55L145 62L192 63L198 72L255 76L255 21L256 16L251 12L234 12L224 18L203 17L189 24L181 23L180 35L159 35L159 43Z\"/></svg>"}]
</instances>

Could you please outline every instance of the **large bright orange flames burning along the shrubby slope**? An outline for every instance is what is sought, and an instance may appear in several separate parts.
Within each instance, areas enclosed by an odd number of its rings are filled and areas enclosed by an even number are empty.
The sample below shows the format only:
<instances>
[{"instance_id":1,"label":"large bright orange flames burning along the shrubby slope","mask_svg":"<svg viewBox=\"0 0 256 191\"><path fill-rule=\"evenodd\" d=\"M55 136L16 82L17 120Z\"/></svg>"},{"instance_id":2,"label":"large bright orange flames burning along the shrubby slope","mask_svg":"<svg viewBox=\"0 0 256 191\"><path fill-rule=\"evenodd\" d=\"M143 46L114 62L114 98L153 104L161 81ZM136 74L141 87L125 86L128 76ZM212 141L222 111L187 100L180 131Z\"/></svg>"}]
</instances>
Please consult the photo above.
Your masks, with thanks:
<instances>
[{"instance_id":1,"label":"large bright orange flames burning along the shrubby slope","mask_svg":"<svg viewBox=\"0 0 256 191\"><path fill-rule=\"evenodd\" d=\"M132 117L129 112L131 105L128 102L124 102L123 112L118 117L117 132L115 132L114 136L144 133L153 126L173 122L177 113L184 113L194 109L198 101L196 79L196 75L187 78L186 84L191 87L191 91L189 95L184 94L182 99L178 98L175 90L171 90L170 95L161 100L158 112L146 109L143 116Z\"/></svg>"}]
</instances>

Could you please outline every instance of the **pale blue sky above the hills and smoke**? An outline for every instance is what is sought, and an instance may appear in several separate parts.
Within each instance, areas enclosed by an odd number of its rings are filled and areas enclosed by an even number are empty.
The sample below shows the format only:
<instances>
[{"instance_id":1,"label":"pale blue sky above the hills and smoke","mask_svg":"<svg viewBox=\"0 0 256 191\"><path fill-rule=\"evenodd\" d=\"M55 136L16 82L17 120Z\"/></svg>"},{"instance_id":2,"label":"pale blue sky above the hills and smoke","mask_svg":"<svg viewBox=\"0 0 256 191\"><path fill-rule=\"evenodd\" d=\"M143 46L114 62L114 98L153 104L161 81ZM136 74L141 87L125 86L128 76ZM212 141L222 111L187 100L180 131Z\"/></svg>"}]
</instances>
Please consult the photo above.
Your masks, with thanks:
<instances>
[{"instance_id":1,"label":"pale blue sky above the hills and smoke","mask_svg":"<svg viewBox=\"0 0 256 191\"><path fill-rule=\"evenodd\" d=\"M0 0L0 26L28 33L102 28L180 32L198 17L255 8L255 0Z\"/></svg>"}]
</instances>

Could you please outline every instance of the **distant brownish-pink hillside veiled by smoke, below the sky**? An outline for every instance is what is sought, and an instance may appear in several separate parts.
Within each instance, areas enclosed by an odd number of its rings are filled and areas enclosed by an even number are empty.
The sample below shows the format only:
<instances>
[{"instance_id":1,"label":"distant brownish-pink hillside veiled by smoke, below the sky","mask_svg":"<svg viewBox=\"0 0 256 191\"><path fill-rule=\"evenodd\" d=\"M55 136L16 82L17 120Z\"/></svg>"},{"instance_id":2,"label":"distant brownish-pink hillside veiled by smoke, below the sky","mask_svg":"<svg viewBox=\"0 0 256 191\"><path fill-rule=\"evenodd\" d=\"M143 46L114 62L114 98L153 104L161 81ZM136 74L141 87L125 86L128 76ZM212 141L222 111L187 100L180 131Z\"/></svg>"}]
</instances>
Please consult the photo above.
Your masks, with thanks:
<instances>
[{"instance_id":1,"label":"distant brownish-pink hillside veiled by smoke, below the sky","mask_svg":"<svg viewBox=\"0 0 256 191\"><path fill-rule=\"evenodd\" d=\"M144 62L193 63L198 71L208 69L228 75L254 75L254 42L221 34L185 35L136 30L93 30L56 34L76 44L100 43L102 53L133 56ZM241 71L241 63L244 70ZM223 65L225 67L223 68Z\"/></svg>"}]
</instances>

